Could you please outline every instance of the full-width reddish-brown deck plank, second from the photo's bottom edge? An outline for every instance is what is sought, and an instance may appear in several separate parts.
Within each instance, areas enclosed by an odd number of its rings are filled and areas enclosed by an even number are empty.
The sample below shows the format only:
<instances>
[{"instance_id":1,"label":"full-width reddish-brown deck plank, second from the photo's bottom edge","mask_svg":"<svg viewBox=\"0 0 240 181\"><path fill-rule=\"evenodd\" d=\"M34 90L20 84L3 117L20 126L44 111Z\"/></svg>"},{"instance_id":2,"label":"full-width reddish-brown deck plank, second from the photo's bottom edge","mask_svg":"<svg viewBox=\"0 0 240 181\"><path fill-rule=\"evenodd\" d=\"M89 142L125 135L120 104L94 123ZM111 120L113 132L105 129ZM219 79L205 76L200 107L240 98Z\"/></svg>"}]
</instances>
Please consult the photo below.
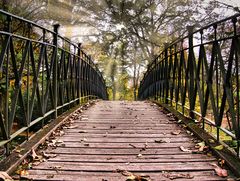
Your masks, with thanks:
<instances>
[{"instance_id":1,"label":"full-width reddish-brown deck plank, second from the photo's bottom edge","mask_svg":"<svg viewBox=\"0 0 240 181\"><path fill-rule=\"evenodd\" d=\"M81 162L43 162L33 169L54 170L59 171L101 171L113 172L117 169L128 170L130 172L142 171L145 172L162 172L162 171L206 171L214 170L214 167L209 163L201 162L184 162L184 163L81 163Z\"/></svg>"}]
</instances>

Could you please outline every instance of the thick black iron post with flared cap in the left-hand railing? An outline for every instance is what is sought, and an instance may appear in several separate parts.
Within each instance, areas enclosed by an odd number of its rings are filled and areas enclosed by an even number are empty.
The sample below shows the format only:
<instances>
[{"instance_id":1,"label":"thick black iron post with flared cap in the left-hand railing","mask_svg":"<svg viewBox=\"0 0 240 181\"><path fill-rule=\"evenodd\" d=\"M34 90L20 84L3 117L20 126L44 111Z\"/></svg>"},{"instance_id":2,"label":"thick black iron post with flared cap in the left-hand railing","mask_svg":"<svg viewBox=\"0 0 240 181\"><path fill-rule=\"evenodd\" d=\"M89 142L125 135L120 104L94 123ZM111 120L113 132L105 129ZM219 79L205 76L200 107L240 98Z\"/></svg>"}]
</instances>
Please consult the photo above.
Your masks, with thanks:
<instances>
[{"instance_id":1,"label":"thick black iron post with flared cap in the left-hand railing","mask_svg":"<svg viewBox=\"0 0 240 181\"><path fill-rule=\"evenodd\" d=\"M53 45L55 46L54 50L54 63L53 63L53 95L54 95L54 117L57 118L57 100L58 100L58 88L57 88L57 66L58 66L58 29L60 25L55 24L53 25L53 29L55 34L53 34Z\"/></svg>"}]
</instances>

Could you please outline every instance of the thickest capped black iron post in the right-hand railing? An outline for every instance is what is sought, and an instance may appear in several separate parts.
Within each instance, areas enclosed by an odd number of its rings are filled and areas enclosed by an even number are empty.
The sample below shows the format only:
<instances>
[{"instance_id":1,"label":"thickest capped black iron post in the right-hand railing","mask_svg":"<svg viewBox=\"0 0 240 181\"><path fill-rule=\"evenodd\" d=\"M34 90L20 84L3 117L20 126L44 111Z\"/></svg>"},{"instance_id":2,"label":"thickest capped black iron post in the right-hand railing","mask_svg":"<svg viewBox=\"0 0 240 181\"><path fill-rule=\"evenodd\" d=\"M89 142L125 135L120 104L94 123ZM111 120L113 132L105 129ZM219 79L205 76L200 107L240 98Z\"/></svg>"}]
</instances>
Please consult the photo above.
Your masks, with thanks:
<instances>
[{"instance_id":1,"label":"thickest capped black iron post in the right-hand railing","mask_svg":"<svg viewBox=\"0 0 240 181\"><path fill-rule=\"evenodd\" d=\"M189 45L189 54L188 54L188 70L189 70L189 103L190 103L190 118L194 119L194 52L193 52L193 26L187 26L188 31L188 45Z\"/></svg>"}]
</instances>

